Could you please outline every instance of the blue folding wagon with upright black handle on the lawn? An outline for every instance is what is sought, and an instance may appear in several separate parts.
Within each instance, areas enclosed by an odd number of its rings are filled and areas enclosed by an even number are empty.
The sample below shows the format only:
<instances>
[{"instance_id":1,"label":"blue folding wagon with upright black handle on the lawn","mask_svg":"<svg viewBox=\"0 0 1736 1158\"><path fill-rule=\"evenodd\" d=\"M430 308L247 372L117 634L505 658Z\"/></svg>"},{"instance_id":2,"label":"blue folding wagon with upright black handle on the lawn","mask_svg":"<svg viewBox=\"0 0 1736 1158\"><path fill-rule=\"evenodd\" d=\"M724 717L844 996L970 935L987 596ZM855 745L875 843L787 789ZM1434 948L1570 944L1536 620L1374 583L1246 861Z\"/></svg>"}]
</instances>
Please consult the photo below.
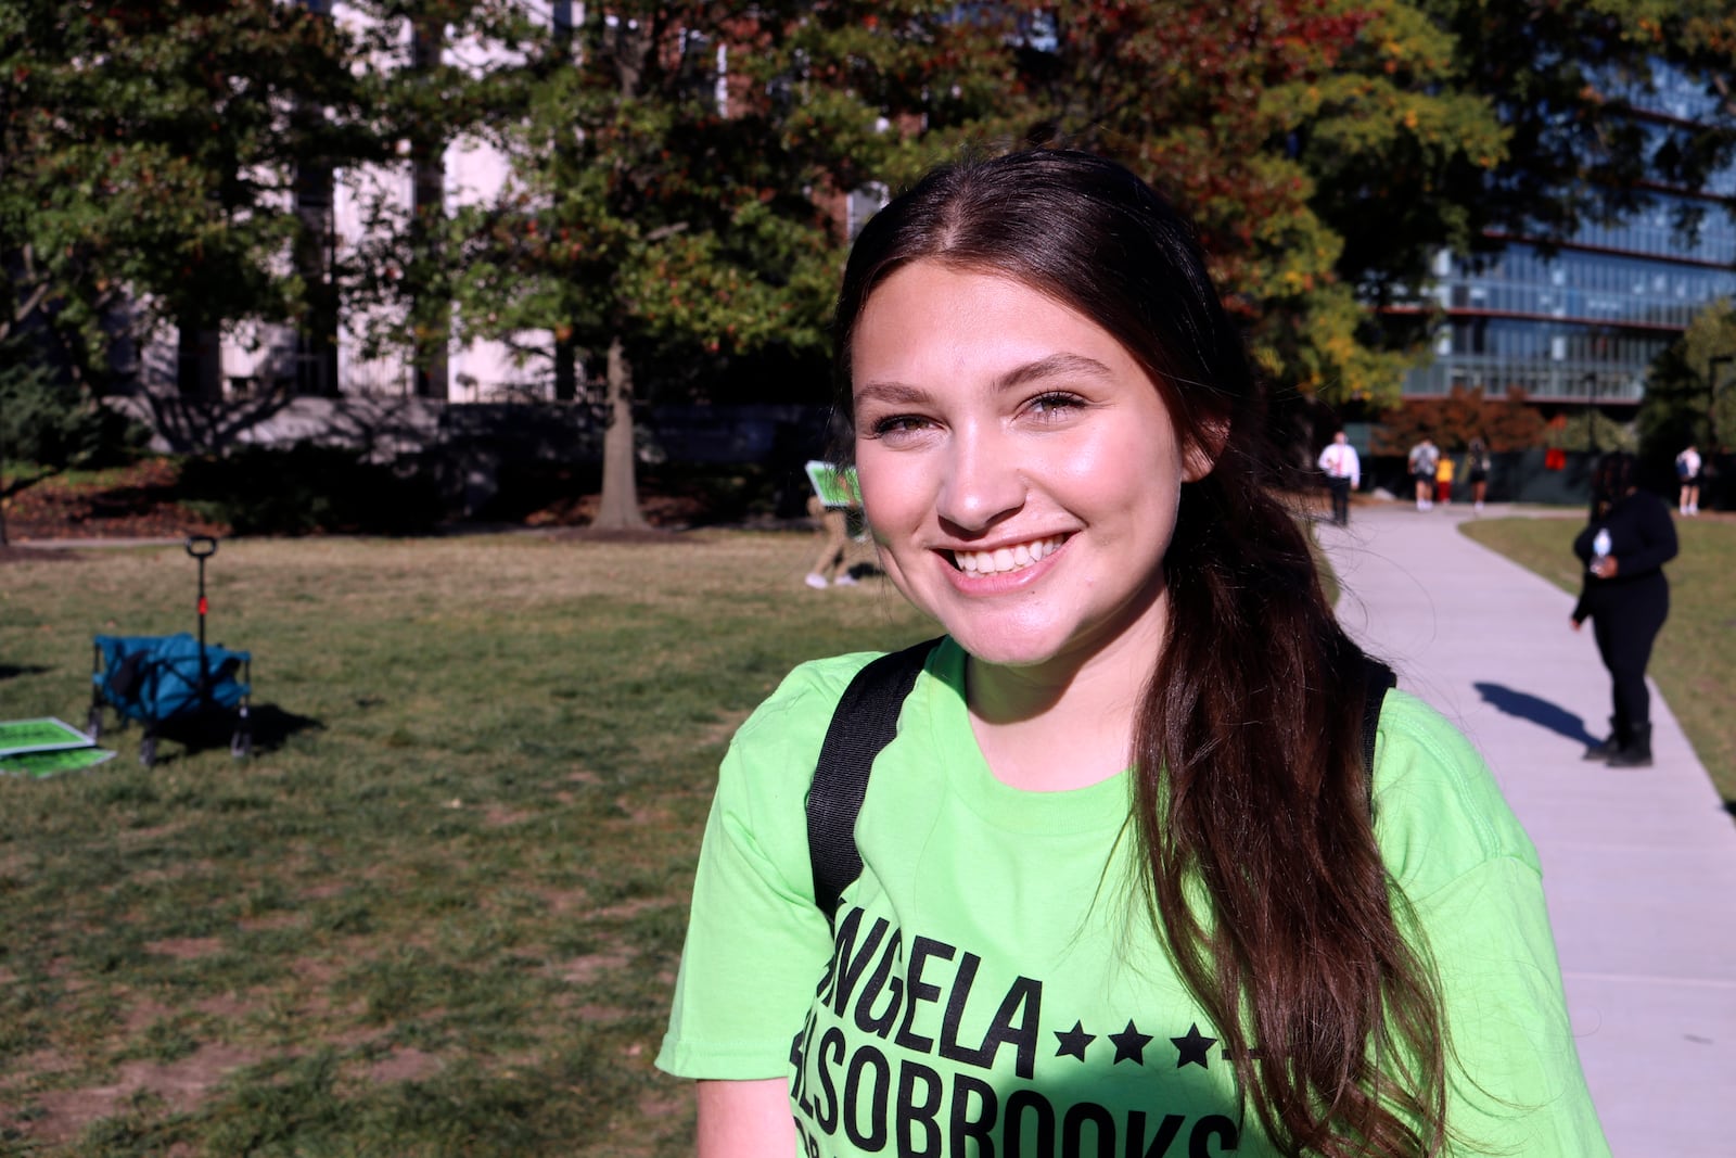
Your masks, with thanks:
<instances>
[{"instance_id":1,"label":"blue folding wagon with upright black handle on the lawn","mask_svg":"<svg viewBox=\"0 0 1736 1158\"><path fill-rule=\"evenodd\" d=\"M217 554L217 540L208 535L187 538L187 554L200 563L200 637L175 635L97 635L90 670L92 738L102 734L102 708L122 720L144 727L139 762L156 762L160 727L170 720L231 714L234 731L229 753L241 757L253 747L248 720L253 656L222 644L205 642L205 561Z\"/></svg>"}]
</instances>

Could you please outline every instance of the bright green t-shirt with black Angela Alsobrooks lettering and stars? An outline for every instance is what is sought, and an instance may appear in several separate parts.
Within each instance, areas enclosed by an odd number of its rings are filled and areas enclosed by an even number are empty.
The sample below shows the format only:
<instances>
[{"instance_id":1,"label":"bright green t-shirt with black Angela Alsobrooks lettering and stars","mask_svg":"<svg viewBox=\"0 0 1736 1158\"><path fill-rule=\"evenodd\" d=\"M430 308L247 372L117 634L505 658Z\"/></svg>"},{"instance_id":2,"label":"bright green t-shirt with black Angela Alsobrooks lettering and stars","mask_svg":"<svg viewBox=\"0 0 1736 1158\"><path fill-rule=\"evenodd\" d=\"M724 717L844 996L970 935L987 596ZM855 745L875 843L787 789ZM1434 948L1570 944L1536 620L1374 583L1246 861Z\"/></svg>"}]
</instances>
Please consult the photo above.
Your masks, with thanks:
<instances>
[{"instance_id":1,"label":"bright green t-shirt with black Angela Alsobrooks lettering and stars","mask_svg":"<svg viewBox=\"0 0 1736 1158\"><path fill-rule=\"evenodd\" d=\"M786 1076L812 1158L1271 1153L1144 913L1130 776L1000 783L951 642L875 764L863 875L833 936L812 901L804 797L870 658L797 668L736 734L658 1066ZM1451 1127L1491 1153L1608 1155L1536 852L1463 736L1403 693L1380 717L1375 814L1443 974L1463 1069Z\"/></svg>"}]
</instances>

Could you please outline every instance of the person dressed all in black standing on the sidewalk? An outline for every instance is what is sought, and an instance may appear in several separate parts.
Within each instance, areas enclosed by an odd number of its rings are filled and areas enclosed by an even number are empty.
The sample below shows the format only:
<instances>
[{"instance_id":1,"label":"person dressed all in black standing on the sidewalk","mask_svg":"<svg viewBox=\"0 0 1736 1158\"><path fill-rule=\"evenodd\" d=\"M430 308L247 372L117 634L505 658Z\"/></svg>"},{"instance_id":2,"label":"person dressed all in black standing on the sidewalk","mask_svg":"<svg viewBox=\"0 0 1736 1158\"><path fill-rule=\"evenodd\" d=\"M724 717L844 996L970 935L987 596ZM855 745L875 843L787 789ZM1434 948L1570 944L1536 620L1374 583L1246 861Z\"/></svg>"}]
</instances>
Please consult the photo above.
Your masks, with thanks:
<instances>
[{"instance_id":1,"label":"person dressed all in black standing on the sidewalk","mask_svg":"<svg viewBox=\"0 0 1736 1158\"><path fill-rule=\"evenodd\" d=\"M1606 760L1611 767L1651 766L1646 663L1670 615L1663 564L1675 557L1670 512L1656 495L1635 490L1634 465L1634 455L1625 451L1597 460L1592 517L1573 540L1573 554L1587 564L1573 630L1592 620L1597 655L1609 668L1614 691L1609 738L1587 748L1585 759ZM1599 542L1599 533L1608 536Z\"/></svg>"}]
</instances>

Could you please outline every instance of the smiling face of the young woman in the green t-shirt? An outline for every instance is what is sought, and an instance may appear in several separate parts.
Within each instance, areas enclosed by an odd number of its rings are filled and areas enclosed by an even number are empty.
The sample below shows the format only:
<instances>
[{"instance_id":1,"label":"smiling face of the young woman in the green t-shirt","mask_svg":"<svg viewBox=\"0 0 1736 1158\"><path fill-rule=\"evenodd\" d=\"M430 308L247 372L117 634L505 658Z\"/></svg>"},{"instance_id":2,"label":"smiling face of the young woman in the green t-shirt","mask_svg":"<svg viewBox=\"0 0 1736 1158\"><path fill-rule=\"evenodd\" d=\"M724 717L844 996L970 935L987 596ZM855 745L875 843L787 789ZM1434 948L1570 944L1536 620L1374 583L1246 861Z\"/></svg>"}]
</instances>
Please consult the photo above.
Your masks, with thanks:
<instances>
[{"instance_id":1,"label":"smiling face of the young woman in the green t-shirt","mask_svg":"<svg viewBox=\"0 0 1736 1158\"><path fill-rule=\"evenodd\" d=\"M918 260L863 309L851 377L863 502L911 602L993 667L1149 665L1196 470L1120 342L1019 281Z\"/></svg>"}]
</instances>

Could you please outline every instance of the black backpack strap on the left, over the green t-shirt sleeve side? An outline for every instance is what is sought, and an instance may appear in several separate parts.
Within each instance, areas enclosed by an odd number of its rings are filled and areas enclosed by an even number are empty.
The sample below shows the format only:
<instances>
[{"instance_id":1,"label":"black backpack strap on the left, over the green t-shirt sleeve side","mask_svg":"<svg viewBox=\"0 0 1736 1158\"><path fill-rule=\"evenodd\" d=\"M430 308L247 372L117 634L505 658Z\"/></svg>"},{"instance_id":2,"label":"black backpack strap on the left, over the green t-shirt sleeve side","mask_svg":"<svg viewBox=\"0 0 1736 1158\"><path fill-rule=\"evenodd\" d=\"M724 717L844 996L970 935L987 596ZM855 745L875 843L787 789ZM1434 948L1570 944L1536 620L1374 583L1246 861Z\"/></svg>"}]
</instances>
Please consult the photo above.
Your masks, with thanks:
<instances>
[{"instance_id":1,"label":"black backpack strap on the left, over the green t-shirt sleeve side","mask_svg":"<svg viewBox=\"0 0 1736 1158\"><path fill-rule=\"evenodd\" d=\"M832 712L814 785L807 790L807 858L814 870L814 903L826 920L837 911L844 887L863 872L856 814L868 793L873 759L898 734L904 696L939 642L929 639L870 661Z\"/></svg>"}]
</instances>

